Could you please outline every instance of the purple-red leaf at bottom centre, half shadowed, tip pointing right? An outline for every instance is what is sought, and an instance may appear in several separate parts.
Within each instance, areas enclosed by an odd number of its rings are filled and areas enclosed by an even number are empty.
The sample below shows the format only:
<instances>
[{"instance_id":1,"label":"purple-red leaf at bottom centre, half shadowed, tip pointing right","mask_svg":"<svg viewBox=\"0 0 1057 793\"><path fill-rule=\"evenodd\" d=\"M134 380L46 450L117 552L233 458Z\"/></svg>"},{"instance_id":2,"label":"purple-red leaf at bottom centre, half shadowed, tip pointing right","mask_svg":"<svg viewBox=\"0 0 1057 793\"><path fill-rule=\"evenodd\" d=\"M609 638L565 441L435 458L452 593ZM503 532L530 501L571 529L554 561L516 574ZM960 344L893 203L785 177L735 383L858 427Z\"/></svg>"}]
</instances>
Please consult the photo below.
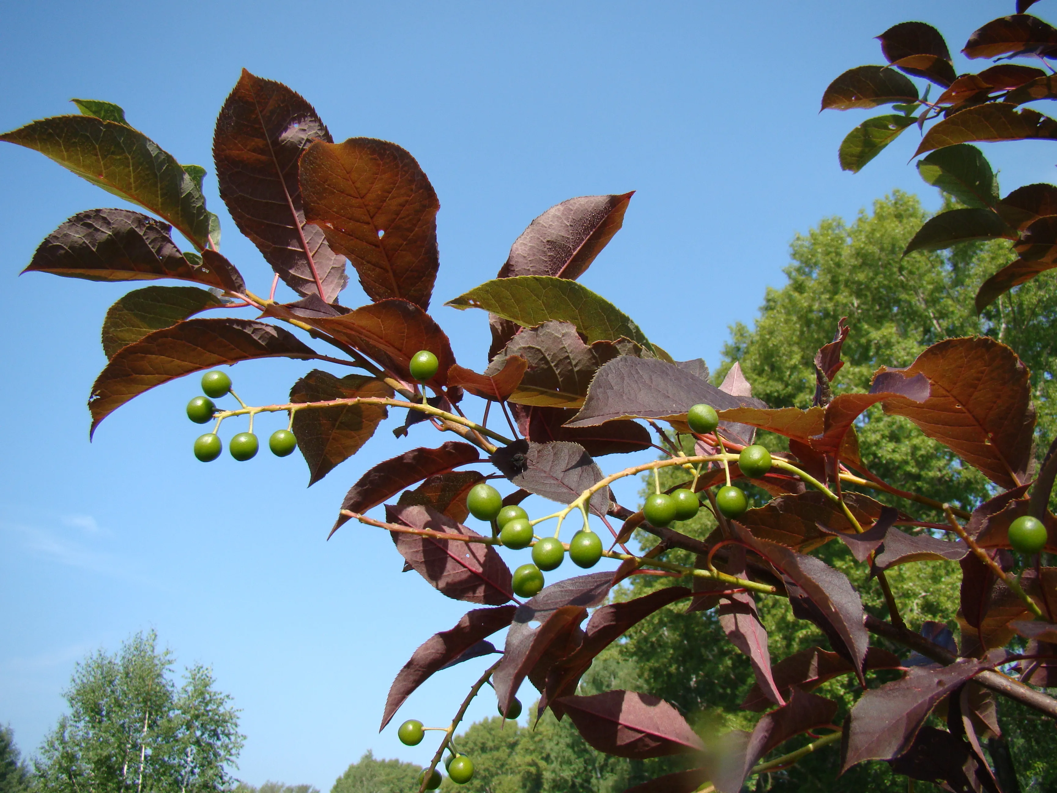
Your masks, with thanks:
<instances>
[{"instance_id":1,"label":"purple-red leaf at bottom centre, half shadowed, tip pointing right","mask_svg":"<svg viewBox=\"0 0 1057 793\"><path fill-rule=\"evenodd\" d=\"M606 754L645 759L705 748L679 711L656 697L613 690L558 702L583 739Z\"/></svg>"}]
</instances>

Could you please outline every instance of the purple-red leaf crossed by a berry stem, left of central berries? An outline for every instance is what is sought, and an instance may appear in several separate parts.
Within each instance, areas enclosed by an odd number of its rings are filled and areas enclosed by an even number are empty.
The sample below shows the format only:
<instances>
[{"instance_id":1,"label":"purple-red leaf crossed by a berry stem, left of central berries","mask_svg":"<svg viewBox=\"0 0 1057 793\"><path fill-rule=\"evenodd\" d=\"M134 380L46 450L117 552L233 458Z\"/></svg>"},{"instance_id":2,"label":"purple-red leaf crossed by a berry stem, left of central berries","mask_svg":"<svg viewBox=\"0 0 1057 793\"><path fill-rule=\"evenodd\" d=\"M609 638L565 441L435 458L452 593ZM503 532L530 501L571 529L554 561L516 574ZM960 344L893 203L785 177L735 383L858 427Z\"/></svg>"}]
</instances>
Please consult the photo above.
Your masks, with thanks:
<instances>
[{"instance_id":1,"label":"purple-red leaf crossed by a berry stem, left of central berries","mask_svg":"<svg viewBox=\"0 0 1057 793\"><path fill-rule=\"evenodd\" d=\"M459 540L480 537L477 532L431 506L386 504L386 520L452 535L452 539L440 539L390 532L401 556L442 594L485 606L501 606L514 596L511 570L496 549L484 542Z\"/></svg>"}]
</instances>

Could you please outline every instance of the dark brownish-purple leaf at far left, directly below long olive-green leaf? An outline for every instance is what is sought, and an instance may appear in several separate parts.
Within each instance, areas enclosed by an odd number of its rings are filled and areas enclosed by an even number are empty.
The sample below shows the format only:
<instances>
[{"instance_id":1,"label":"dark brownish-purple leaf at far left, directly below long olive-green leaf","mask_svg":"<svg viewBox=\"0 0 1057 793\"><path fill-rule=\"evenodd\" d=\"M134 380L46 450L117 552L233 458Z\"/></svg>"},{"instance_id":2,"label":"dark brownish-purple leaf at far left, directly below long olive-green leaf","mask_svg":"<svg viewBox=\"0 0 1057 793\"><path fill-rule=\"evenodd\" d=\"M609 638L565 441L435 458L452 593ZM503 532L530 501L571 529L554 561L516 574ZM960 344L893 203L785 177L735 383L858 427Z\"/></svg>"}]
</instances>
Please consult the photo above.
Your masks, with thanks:
<instances>
[{"instance_id":1,"label":"dark brownish-purple leaf at far left, directly below long olive-green leaf","mask_svg":"<svg viewBox=\"0 0 1057 793\"><path fill-rule=\"evenodd\" d=\"M22 272L90 281L177 278L224 288L217 273L184 257L171 230L168 223L130 209L88 209L48 235Z\"/></svg>"}]
</instances>

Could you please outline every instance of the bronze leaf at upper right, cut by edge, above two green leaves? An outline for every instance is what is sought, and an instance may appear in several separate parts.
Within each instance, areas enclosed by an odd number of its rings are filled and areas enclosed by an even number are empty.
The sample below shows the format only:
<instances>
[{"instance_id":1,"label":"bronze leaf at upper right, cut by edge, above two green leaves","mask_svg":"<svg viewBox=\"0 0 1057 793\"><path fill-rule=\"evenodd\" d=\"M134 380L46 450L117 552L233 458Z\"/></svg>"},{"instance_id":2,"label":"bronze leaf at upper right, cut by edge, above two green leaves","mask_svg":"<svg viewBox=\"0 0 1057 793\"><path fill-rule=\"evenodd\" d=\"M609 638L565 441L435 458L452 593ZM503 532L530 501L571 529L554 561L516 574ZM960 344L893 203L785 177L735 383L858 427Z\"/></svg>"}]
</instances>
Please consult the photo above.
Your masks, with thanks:
<instances>
[{"instance_id":1,"label":"bronze leaf at upper right, cut by edge, above two green leaves","mask_svg":"<svg viewBox=\"0 0 1057 793\"><path fill-rule=\"evenodd\" d=\"M1016 105L977 105L934 124L914 151L914 156L958 143L1057 140L1057 121Z\"/></svg>"}]
</instances>

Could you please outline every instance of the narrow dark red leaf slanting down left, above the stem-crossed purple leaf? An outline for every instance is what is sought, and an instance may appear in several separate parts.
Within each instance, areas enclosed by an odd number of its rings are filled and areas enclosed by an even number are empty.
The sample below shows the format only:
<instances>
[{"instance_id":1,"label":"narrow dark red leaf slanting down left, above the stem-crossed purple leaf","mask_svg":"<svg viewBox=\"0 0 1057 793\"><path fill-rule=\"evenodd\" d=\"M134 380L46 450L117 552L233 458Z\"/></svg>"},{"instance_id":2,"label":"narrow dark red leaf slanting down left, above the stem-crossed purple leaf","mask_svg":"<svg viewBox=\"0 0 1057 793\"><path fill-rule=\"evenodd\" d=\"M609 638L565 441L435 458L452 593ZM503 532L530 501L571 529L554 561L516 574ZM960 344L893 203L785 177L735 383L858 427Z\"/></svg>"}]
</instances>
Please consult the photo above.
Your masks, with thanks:
<instances>
[{"instance_id":1,"label":"narrow dark red leaf slanting down left, above the stem-crossed purple leaf","mask_svg":"<svg viewBox=\"0 0 1057 793\"><path fill-rule=\"evenodd\" d=\"M477 462L479 459L477 448L461 441L447 441L438 448L420 447L405 451L403 455L379 462L364 474L345 495L341 509L365 513L415 482L437 474L444 474L460 465ZM348 519L346 515L338 515L331 534L334 534Z\"/></svg>"}]
</instances>

